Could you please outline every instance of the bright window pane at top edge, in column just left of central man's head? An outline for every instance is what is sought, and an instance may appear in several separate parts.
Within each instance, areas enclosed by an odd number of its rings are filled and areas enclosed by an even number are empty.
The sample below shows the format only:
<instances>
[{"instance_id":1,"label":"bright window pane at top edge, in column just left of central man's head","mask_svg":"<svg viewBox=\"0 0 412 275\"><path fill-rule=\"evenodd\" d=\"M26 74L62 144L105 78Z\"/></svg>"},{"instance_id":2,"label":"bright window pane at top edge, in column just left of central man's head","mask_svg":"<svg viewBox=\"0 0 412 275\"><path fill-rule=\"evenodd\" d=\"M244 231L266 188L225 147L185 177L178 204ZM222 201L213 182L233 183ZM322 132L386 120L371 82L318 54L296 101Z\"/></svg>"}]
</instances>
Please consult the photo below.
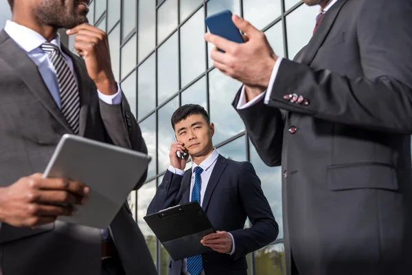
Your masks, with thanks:
<instances>
[{"instance_id":1,"label":"bright window pane at top edge, in column just left of central man's head","mask_svg":"<svg viewBox=\"0 0 412 275\"><path fill-rule=\"evenodd\" d=\"M166 0L157 10L157 43L177 28L177 0Z\"/></svg>"}]
</instances>

